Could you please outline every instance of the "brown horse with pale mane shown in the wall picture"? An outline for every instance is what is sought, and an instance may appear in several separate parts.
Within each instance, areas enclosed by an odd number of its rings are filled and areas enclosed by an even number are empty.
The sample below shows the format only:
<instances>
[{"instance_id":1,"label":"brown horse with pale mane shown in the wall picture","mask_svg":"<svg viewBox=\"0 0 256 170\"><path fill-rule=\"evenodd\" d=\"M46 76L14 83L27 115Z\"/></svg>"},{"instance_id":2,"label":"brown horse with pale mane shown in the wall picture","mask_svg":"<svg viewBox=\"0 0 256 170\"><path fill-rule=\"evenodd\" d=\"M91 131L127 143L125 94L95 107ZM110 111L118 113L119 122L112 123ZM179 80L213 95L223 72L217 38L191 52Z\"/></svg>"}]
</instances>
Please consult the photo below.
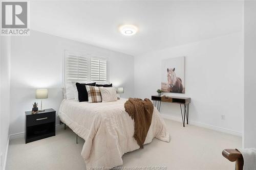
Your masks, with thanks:
<instances>
[{"instance_id":1,"label":"brown horse with pale mane shown in the wall picture","mask_svg":"<svg viewBox=\"0 0 256 170\"><path fill-rule=\"evenodd\" d=\"M175 68L167 68L168 92L183 93L181 78L176 77Z\"/></svg>"}]
</instances>

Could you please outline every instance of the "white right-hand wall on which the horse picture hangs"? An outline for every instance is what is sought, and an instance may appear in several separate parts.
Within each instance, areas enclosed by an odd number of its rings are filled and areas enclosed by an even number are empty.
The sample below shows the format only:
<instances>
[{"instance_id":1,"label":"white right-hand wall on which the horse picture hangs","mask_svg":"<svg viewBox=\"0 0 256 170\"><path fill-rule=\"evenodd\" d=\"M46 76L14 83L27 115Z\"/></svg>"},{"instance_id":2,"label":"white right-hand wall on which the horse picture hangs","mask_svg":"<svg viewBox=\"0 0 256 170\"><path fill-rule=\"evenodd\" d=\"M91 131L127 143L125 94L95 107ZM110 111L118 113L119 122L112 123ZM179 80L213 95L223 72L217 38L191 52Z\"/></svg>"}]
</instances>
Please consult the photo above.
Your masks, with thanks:
<instances>
[{"instance_id":1,"label":"white right-hand wall on which the horse picture hangs","mask_svg":"<svg viewBox=\"0 0 256 170\"><path fill-rule=\"evenodd\" d=\"M185 56L189 120L241 135L243 113L242 32L135 56L135 97L151 98L161 88L161 60ZM179 105L162 103L161 114L181 120ZM225 115L225 120L221 115Z\"/></svg>"}]
</instances>

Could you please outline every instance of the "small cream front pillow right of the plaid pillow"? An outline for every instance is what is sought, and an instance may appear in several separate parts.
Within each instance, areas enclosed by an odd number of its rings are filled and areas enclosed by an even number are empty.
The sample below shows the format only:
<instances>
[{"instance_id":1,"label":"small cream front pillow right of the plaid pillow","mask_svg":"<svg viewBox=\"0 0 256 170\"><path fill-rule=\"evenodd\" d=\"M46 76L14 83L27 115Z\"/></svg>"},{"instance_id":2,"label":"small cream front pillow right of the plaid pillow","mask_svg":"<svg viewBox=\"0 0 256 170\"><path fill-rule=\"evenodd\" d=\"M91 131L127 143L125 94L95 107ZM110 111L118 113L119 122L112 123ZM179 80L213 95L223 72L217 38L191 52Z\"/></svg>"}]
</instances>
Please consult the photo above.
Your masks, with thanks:
<instances>
[{"instance_id":1,"label":"small cream front pillow right of the plaid pillow","mask_svg":"<svg viewBox=\"0 0 256 170\"><path fill-rule=\"evenodd\" d=\"M117 101L116 89L114 87L100 87L102 102Z\"/></svg>"}]
</instances>

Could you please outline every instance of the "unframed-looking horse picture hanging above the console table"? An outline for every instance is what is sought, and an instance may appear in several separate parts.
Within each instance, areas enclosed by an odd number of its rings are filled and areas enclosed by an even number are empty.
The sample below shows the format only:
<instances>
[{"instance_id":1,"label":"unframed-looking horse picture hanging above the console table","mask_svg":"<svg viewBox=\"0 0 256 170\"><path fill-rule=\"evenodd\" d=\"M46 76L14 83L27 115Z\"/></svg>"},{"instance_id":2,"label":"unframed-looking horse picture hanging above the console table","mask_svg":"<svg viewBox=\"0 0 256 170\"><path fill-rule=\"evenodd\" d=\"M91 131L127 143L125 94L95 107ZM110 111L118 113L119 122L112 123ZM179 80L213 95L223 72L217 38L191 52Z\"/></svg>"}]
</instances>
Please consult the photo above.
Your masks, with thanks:
<instances>
[{"instance_id":1,"label":"unframed-looking horse picture hanging above the console table","mask_svg":"<svg viewBox=\"0 0 256 170\"><path fill-rule=\"evenodd\" d=\"M185 57L162 60L161 90L171 93L185 93Z\"/></svg>"}]
</instances>

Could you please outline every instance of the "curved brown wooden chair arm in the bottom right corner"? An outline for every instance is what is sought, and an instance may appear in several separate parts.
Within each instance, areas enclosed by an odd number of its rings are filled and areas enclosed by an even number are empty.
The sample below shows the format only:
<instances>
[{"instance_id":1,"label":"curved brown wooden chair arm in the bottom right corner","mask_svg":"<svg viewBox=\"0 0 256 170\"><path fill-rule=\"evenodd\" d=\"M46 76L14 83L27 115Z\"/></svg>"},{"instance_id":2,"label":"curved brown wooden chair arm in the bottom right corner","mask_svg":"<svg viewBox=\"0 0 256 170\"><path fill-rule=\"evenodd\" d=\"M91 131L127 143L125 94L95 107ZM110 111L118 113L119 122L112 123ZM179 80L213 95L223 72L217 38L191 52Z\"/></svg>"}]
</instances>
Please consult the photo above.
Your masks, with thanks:
<instances>
[{"instance_id":1,"label":"curved brown wooden chair arm in the bottom right corner","mask_svg":"<svg viewBox=\"0 0 256 170\"><path fill-rule=\"evenodd\" d=\"M222 155L229 161L236 161L236 170L242 170L244 165L244 158L241 152L236 149L226 149L222 151Z\"/></svg>"}]
</instances>

